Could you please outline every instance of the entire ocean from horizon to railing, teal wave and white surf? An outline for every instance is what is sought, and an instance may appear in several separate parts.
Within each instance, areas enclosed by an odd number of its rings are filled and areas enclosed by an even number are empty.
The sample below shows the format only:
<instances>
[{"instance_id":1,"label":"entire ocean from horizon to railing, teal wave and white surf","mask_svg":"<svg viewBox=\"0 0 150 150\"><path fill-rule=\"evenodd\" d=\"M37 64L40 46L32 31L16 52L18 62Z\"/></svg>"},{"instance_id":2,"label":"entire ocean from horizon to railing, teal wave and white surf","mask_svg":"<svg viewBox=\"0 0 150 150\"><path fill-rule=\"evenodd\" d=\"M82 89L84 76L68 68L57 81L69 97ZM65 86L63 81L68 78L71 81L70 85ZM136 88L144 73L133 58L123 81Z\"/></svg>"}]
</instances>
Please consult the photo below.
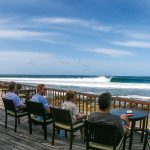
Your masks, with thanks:
<instances>
[{"instance_id":1,"label":"entire ocean from horizon to railing, teal wave and white surf","mask_svg":"<svg viewBox=\"0 0 150 150\"><path fill-rule=\"evenodd\" d=\"M142 76L84 76L84 75L0 75L0 81L16 81L49 88L76 90L150 101L150 77Z\"/></svg>"}]
</instances>

